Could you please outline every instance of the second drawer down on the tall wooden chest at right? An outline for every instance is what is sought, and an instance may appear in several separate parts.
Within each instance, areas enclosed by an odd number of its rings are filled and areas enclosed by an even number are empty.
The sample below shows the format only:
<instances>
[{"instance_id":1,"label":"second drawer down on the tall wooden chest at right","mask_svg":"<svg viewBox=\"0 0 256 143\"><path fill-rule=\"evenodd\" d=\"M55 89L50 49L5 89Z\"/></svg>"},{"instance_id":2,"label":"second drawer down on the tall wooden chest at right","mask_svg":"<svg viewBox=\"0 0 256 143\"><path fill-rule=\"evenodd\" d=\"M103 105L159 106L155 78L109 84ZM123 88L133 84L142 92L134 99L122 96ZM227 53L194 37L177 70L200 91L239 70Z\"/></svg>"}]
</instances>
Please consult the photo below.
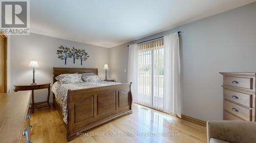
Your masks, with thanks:
<instances>
[{"instance_id":1,"label":"second drawer down on the tall wooden chest at right","mask_svg":"<svg viewBox=\"0 0 256 143\"><path fill-rule=\"evenodd\" d=\"M224 89L224 99L252 107L252 95Z\"/></svg>"}]
</instances>

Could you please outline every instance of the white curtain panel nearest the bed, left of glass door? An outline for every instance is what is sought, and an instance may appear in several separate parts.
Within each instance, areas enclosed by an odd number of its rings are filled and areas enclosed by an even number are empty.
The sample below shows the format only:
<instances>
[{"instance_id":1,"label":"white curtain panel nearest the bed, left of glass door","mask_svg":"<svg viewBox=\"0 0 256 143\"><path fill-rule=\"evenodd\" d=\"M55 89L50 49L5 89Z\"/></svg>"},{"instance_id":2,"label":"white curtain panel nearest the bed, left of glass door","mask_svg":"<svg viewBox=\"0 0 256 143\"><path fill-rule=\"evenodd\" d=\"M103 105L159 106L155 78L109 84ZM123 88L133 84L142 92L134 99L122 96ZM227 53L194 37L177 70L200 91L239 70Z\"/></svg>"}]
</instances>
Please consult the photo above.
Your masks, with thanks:
<instances>
[{"instance_id":1,"label":"white curtain panel nearest the bed, left of glass door","mask_svg":"<svg viewBox=\"0 0 256 143\"><path fill-rule=\"evenodd\" d=\"M128 58L128 82L132 82L131 92L133 96L133 102L137 102L137 72L138 72L138 46L137 44L129 45L129 58Z\"/></svg>"}]
</instances>

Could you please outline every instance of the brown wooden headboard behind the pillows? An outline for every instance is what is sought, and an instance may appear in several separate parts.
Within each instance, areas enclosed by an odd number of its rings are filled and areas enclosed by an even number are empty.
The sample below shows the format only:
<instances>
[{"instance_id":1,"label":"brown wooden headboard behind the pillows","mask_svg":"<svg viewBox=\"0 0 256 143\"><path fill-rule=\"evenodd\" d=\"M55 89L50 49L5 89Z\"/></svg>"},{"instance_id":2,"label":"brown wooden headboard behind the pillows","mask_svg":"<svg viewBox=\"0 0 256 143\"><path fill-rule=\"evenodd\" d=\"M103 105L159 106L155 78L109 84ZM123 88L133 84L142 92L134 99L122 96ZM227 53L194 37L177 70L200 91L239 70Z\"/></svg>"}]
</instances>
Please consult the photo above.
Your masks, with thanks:
<instances>
[{"instance_id":1,"label":"brown wooden headboard behind the pillows","mask_svg":"<svg viewBox=\"0 0 256 143\"><path fill-rule=\"evenodd\" d=\"M53 67L53 83L57 80L55 77L57 77L60 74L64 73L87 73L92 72L96 75L98 75L98 69L97 68L55 68Z\"/></svg>"}]
</instances>

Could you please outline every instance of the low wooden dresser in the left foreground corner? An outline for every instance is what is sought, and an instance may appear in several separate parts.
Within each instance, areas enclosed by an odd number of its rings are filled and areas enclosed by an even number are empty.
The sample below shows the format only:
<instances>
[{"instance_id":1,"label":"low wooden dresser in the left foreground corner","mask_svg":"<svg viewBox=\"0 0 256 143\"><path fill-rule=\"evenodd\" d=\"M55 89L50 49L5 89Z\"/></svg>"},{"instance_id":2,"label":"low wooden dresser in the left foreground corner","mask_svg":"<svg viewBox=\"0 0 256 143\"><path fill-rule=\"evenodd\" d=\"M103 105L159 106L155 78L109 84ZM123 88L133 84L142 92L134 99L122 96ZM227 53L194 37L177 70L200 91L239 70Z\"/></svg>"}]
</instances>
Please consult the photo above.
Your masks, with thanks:
<instances>
[{"instance_id":1,"label":"low wooden dresser in the left foreground corner","mask_svg":"<svg viewBox=\"0 0 256 143\"><path fill-rule=\"evenodd\" d=\"M31 91L0 94L0 142L30 142Z\"/></svg>"}]
</instances>

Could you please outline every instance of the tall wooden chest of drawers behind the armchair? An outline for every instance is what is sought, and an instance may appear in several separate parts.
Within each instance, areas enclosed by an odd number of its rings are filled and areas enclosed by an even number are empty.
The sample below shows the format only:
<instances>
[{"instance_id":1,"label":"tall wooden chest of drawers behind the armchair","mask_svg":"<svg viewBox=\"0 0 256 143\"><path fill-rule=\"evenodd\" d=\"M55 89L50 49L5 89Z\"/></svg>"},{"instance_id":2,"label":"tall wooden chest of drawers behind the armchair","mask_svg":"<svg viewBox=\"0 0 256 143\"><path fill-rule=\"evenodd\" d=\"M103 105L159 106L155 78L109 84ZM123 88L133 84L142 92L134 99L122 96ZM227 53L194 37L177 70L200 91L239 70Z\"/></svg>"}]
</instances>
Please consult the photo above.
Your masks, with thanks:
<instances>
[{"instance_id":1,"label":"tall wooden chest of drawers behind the armchair","mask_svg":"<svg viewBox=\"0 0 256 143\"><path fill-rule=\"evenodd\" d=\"M221 72L223 120L256 121L255 73Z\"/></svg>"}]
</instances>

